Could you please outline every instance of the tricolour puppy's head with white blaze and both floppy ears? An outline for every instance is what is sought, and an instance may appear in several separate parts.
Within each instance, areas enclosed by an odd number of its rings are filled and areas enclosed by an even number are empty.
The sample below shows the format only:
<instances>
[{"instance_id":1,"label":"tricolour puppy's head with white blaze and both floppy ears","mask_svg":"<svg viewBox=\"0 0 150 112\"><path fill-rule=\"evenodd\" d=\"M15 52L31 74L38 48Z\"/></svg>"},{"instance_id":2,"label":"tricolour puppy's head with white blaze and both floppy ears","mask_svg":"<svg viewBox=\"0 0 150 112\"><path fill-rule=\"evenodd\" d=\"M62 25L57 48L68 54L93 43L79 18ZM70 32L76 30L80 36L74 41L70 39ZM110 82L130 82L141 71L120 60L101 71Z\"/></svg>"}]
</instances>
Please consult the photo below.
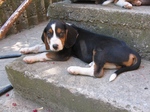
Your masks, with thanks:
<instances>
[{"instance_id":1,"label":"tricolour puppy's head with white blaze and both floppy ears","mask_svg":"<svg viewBox=\"0 0 150 112\"><path fill-rule=\"evenodd\" d=\"M49 22L45 27L42 40L46 50L61 51L64 47L74 45L78 32L69 24L62 21Z\"/></svg>"}]
</instances>

